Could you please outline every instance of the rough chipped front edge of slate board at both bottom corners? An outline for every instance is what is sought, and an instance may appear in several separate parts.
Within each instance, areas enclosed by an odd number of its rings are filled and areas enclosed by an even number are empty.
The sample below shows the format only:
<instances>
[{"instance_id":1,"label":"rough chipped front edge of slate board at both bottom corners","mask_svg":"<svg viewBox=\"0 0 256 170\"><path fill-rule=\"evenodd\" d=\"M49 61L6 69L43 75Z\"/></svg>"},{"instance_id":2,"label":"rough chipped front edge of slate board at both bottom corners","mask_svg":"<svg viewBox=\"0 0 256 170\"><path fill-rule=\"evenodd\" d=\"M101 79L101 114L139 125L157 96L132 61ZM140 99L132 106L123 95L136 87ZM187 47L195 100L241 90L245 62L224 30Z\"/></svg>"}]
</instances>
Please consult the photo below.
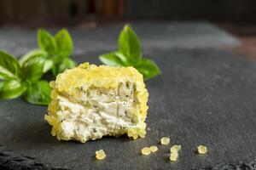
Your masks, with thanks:
<instances>
[{"instance_id":1,"label":"rough chipped front edge of slate board at both bottom corners","mask_svg":"<svg viewBox=\"0 0 256 170\"><path fill-rule=\"evenodd\" d=\"M0 149L3 147L0 144ZM38 170L71 170L62 167L51 167L31 156L23 156L15 151L0 150L0 169L38 169ZM191 167L192 170L196 168ZM238 163L221 163L213 167L202 167L199 170L256 170L256 159L253 161L239 161ZM74 169L73 169L74 170Z\"/></svg>"}]
</instances>

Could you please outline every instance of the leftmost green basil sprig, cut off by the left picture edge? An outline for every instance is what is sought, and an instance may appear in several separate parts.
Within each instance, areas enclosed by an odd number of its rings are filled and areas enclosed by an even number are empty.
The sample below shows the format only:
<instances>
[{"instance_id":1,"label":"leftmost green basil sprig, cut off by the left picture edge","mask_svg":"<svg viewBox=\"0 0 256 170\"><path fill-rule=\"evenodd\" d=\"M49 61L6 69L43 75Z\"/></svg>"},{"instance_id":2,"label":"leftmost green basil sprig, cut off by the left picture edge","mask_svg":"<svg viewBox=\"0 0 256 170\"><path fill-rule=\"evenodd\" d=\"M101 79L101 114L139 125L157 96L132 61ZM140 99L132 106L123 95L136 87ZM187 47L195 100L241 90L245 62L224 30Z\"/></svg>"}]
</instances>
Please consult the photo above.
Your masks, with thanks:
<instances>
[{"instance_id":1,"label":"leftmost green basil sprig, cut off by the left picture edge","mask_svg":"<svg viewBox=\"0 0 256 170\"><path fill-rule=\"evenodd\" d=\"M22 64L20 64L22 63ZM20 62L0 50L0 99L15 99L20 95L34 105L49 104L49 82L40 80L47 60L34 55Z\"/></svg>"}]
</instances>

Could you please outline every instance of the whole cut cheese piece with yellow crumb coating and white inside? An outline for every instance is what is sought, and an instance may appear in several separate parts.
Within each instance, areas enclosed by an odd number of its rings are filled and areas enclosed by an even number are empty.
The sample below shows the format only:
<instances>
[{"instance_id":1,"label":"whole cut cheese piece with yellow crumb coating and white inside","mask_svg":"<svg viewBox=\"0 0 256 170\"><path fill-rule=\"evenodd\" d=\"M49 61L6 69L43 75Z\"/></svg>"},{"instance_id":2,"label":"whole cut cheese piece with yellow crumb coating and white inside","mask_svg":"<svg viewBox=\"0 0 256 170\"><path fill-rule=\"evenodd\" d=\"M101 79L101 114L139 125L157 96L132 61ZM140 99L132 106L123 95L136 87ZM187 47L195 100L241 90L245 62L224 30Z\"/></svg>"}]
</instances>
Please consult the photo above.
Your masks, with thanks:
<instances>
[{"instance_id":1,"label":"whole cut cheese piece with yellow crumb coating and white inside","mask_svg":"<svg viewBox=\"0 0 256 170\"><path fill-rule=\"evenodd\" d=\"M135 68L84 63L59 74L50 86L44 118L57 139L84 143L106 135L145 136L148 90Z\"/></svg>"}]
</instances>

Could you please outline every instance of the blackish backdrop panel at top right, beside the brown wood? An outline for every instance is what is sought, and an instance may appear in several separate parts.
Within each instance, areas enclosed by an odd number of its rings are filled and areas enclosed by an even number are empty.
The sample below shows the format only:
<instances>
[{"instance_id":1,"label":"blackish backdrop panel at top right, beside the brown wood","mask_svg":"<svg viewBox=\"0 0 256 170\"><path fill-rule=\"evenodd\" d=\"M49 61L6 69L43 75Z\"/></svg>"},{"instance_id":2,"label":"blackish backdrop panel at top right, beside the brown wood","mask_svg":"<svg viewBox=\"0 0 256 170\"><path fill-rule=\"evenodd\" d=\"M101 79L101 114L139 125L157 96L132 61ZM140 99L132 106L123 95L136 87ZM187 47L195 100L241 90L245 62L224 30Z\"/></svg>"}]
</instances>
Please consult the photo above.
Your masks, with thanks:
<instances>
[{"instance_id":1,"label":"blackish backdrop panel at top right, beside the brown wood","mask_svg":"<svg viewBox=\"0 0 256 170\"><path fill-rule=\"evenodd\" d=\"M255 23L253 0L127 0L130 19L212 20Z\"/></svg>"}]
</instances>

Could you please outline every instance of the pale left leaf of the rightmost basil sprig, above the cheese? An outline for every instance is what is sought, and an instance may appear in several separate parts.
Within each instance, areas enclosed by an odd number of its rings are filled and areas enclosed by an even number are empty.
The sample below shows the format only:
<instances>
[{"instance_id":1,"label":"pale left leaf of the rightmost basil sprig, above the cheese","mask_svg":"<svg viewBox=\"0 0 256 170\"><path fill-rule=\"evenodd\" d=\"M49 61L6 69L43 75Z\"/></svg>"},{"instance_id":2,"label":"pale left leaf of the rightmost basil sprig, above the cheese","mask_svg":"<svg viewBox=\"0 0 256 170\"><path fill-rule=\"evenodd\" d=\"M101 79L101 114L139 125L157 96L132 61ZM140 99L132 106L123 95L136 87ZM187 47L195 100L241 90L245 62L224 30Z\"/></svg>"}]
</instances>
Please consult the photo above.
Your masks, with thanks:
<instances>
[{"instance_id":1,"label":"pale left leaf of the rightmost basil sprig, above the cheese","mask_svg":"<svg viewBox=\"0 0 256 170\"><path fill-rule=\"evenodd\" d=\"M109 53L109 54L102 54L99 56L100 60L102 61L103 64L105 65L110 65L110 66L122 66L123 63L121 59L116 55L116 53Z\"/></svg>"}]
</instances>

